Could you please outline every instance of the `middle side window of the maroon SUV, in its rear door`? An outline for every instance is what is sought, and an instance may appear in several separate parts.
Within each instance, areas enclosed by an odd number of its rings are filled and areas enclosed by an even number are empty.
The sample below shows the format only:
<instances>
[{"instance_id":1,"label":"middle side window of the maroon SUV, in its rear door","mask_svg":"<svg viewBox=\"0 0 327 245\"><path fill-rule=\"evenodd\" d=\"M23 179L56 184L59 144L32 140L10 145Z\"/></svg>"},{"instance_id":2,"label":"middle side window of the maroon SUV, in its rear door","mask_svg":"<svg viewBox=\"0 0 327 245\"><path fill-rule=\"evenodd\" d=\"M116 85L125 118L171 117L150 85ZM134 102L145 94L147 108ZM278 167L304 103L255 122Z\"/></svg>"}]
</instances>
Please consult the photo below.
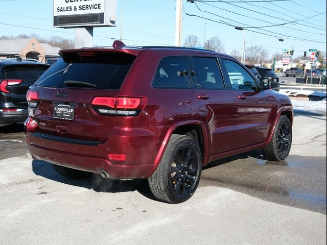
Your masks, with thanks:
<instances>
[{"instance_id":1,"label":"middle side window of the maroon SUV, in its rear door","mask_svg":"<svg viewBox=\"0 0 327 245\"><path fill-rule=\"evenodd\" d=\"M216 58L193 57L193 63L197 88L225 88Z\"/></svg>"}]
</instances>

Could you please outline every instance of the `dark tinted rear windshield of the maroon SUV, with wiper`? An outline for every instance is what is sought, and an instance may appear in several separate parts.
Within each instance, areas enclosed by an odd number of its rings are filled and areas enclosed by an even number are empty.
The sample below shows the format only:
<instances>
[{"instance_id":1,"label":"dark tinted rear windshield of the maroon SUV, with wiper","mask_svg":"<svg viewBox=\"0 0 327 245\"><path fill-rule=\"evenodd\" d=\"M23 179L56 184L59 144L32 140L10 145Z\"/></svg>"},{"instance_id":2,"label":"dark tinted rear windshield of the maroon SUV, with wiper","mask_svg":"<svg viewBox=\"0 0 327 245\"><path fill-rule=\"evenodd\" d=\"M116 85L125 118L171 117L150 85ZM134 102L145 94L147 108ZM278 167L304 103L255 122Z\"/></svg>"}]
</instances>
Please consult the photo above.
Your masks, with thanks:
<instances>
[{"instance_id":1,"label":"dark tinted rear windshield of the maroon SUV, with wiper","mask_svg":"<svg viewBox=\"0 0 327 245\"><path fill-rule=\"evenodd\" d=\"M96 53L91 56L67 54L44 72L35 84L45 87L67 87L65 81L76 81L95 86L74 85L74 87L120 89L135 58L129 54Z\"/></svg>"}]
</instances>

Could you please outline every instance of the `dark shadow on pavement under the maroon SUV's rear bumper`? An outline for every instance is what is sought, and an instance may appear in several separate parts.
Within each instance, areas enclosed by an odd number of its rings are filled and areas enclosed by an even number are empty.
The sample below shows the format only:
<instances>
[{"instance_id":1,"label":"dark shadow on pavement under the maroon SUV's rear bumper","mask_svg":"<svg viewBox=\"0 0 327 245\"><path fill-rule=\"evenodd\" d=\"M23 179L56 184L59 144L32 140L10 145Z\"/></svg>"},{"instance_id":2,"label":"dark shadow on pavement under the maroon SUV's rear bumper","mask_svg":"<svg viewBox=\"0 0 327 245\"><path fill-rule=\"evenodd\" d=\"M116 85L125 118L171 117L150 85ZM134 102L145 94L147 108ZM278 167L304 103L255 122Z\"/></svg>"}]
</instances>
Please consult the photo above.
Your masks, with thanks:
<instances>
[{"instance_id":1,"label":"dark shadow on pavement under the maroon SUV's rear bumper","mask_svg":"<svg viewBox=\"0 0 327 245\"><path fill-rule=\"evenodd\" d=\"M155 200L147 179L134 180L112 180L104 179L100 175L93 174L90 177L81 180L73 180L59 175L52 166L52 163L42 160L32 161L32 170L34 174L42 176L46 179L54 180L67 185L79 186L96 192L129 192L138 191L146 198Z\"/></svg>"}]
</instances>

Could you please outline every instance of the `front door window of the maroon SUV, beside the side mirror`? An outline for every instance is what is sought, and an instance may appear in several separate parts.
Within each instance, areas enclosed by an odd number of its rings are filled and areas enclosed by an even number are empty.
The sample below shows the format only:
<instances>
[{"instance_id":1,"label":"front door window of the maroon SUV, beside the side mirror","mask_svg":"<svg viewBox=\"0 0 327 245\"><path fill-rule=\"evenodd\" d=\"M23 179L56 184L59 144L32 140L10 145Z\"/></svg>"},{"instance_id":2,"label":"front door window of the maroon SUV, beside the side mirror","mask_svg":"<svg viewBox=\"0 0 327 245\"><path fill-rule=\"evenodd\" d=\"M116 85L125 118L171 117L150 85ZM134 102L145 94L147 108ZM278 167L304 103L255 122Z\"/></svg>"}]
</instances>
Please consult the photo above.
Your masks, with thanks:
<instances>
[{"instance_id":1,"label":"front door window of the maroon SUV, beside the side mirror","mask_svg":"<svg viewBox=\"0 0 327 245\"><path fill-rule=\"evenodd\" d=\"M256 83L248 72L238 63L223 59L232 89L255 90Z\"/></svg>"}]
</instances>

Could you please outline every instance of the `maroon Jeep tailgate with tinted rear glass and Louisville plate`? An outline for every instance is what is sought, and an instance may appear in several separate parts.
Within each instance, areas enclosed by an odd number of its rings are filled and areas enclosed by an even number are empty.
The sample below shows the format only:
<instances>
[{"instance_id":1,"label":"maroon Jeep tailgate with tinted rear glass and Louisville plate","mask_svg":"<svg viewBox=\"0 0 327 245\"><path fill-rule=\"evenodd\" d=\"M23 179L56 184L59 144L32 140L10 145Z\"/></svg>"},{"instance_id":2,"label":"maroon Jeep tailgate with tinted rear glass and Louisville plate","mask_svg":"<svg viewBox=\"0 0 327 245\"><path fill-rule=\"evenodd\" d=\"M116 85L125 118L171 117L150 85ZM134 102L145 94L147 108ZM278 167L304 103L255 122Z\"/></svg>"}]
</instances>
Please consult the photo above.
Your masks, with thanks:
<instances>
[{"instance_id":1,"label":"maroon Jeep tailgate with tinted rear glass and Louisville plate","mask_svg":"<svg viewBox=\"0 0 327 245\"><path fill-rule=\"evenodd\" d=\"M40 133L106 141L114 115L102 115L91 105L95 97L114 98L135 56L89 52L63 56L35 83L39 106L33 115ZM102 108L107 110L106 107ZM96 112L96 110L99 110Z\"/></svg>"}]
</instances>

